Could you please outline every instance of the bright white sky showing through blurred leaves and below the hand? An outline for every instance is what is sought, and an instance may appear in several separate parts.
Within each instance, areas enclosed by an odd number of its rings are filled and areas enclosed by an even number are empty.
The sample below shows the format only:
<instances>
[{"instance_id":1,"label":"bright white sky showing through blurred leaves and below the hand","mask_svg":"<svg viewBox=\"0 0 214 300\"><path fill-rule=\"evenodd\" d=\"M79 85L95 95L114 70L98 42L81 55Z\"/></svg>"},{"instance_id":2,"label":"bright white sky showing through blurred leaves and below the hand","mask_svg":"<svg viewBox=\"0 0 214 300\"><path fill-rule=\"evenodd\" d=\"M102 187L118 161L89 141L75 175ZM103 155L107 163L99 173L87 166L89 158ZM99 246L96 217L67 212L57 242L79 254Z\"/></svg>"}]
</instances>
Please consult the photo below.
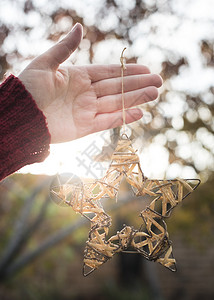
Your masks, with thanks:
<instances>
[{"instance_id":1,"label":"bright white sky showing through blurred leaves and below the hand","mask_svg":"<svg viewBox=\"0 0 214 300\"><path fill-rule=\"evenodd\" d=\"M8 23L15 22L16 24L24 22L30 26L35 26L35 30L31 31L27 39L25 36L14 32L12 36L6 39L3 47L7 53L10 53L14 49L14 43L16 43L23 56L27 57L29 53L35 56L48 49L52 45L52 42L45 39L47 37L47 27L38 26L40 17L37 13L23 15L19 9L19 5L22 2L23 0L13 1L11 5L10 1L1 0L0 20ZM131 9L134 4L134 1L129 0L117 0L116 2L124 11ZM147 2L152 3L151 0L147 0ZM172 53L172 61L176 56L185 56L188 58L189 66L183 67L180 71L180 76L171 80L171 97L161 107L165 116L173 117L172 129L167 133L168 138L170 138L170 135L178 134L178 130L182 129L182 114L186 109L185 99L179 97L176 93L173 94L173 91L184 91L192 93L192 95L204 93L208 99L207 101L213 101L213 99L209 100L207 90L214 82L214 68L204 68L198 41L214 35L214 1L172 0L171 8L176 11L176 15L166 13L165 10L161 9L166 5L166 1L157 0L156 2L160 7L159 12L147 20L143 19L132 28L131 34L134 37L134 43L127 50L127 56L138 56L138 63L146 64L154 73L161 71L161 63L164 60L163 49L167 50L168 53ZM50 13L55 7L55 1L34 0L34 3L37 7L45 9L45 11L49 10ZM87 25L93 25L96 12L102 7L103 0L63 0L60 4L64 8L72 7L76 9L77 13L85 18ZM182 18L182 25L178 26L180 18ZM46 26L48 26L48 20ZM67 22L64 20L60 26L67 32L72 24L68 20ZM109 29L115 26L117 26L117 18L114 13L109 12L100 24L100 29ZM156 28L156 31L152 31L151 28ZM38 43L39 39L41 42ZM84 47L87 48L86 41L83 41L82 45L83 43L85 43ZM94 62L97 64L119 63L120 53L124 46L126 46L125 42L115 40L114 38L97 44L94 49ZM71 61L75 62L75 64L89 63L88 56L84 51L81 51L81 53L76 52L72 55ZM13 73L18 74L27 63L28 61L14 62ZM164 83L165 86L168 84L168 82ZM147 122L147 112L148 107L145 108L145 115L140 122ZM207 118L209 115L209 111L203 110L203 107L200 113L203 118ZM194 119L194 114L194 111L189 112L190 119ZM208 132L201 130L197 132L197 136L202 144L206 143L208 139L209 145L214 146L214 137L212 134L209 135ZM190 146L188 135L185 136L185 133L182 133L182 135L178 134L177 139L179 144L177 151L181 157L188 158L188 156L193 156L197 151L197 157L199 158L197 158L196 163L199 169L205 168L208 164L213 163L214 165L213 156L208 151L204 151L200 147L200 143ZM45 162L26 166L19 172L48 175L68 172L81 177L102 177L108 167L108 163L101 164L94 162L93 156L98 154L102 146L108 142L109 133L102 132L69 143L51 145L50 155ZM164 146L165 143L166 137L159 134L152 144L140 149L140 152L138 151L145 175L150 178L156 177L160 179L164 176L168 178L178 176L183 178L197 177L196 172L191 167L181 166L178 163L169 165L169 152ZM214 149L214 147L211 149Z\"/></svg>"}]
</instances>

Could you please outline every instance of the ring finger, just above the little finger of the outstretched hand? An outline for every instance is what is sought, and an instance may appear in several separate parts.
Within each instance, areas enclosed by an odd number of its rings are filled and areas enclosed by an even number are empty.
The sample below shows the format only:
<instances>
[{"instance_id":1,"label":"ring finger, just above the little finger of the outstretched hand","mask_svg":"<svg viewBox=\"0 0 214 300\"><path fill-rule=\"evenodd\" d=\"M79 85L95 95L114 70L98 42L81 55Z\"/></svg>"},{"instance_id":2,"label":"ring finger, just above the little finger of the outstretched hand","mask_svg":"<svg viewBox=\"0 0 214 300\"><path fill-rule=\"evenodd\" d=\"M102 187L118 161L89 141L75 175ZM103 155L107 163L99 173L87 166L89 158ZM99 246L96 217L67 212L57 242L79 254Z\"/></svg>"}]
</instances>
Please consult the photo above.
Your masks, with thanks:
<instances>
[{"instance_id":1,"label":"ring finger, just above the little finger of the outstretched hand","mask_svg":"<svg viewBox=\"0 0 214 300\"><path fill-rule=\"evenodd\" d=\"M143 104L145 102L153 101L158 97L158 89L150 86L143 89L127 92L124 94L125 108L131 108ZM98 99L97 112L107 113L122 109L122 95L108 95Z\"/></svg>"}]
</instances>

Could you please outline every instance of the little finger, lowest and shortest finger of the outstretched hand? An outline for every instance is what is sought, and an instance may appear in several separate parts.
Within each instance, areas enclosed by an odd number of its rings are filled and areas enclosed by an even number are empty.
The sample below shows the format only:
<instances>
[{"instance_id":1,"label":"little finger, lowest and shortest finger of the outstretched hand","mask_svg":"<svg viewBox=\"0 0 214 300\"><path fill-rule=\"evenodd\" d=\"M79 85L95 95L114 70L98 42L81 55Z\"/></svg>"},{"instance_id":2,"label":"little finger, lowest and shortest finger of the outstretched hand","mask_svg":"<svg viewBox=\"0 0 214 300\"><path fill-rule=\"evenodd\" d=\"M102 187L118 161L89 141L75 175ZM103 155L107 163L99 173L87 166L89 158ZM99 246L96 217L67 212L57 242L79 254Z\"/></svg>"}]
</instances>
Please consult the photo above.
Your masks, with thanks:
<instances>
[{"instance_id":1,"label":"little finger, lowest and shortest finger of the outstretched hand","mask_svg":"<svg viewBox=\"0 0 214 300\"><path fill-rule=\"evenodd\" d=\"M143 112L139 108L128 109L125 111L126 124L139 120ZM123 124L123 113L117 111L113 113L98 114L95 117L94 132L115 128Z\"/></svg>"}]
</instances>

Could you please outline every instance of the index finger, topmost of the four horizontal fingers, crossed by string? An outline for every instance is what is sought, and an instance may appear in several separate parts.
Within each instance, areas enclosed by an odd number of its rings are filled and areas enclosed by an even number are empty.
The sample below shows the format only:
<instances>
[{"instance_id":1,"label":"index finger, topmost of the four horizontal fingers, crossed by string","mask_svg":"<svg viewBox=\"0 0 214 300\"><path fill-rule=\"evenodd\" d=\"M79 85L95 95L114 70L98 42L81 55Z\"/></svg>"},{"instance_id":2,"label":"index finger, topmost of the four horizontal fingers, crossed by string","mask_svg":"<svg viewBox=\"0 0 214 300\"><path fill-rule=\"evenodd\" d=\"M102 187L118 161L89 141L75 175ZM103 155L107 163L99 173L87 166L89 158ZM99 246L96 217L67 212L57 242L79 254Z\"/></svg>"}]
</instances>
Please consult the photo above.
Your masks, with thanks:
<instances>
[{"instance_id":1,"label":"index finger, topmost of the four horizontal fingers, crossed by string","mask_svg":"<svg viewBox=\"0 0 214 300\"><path fill-rule=\"evenodd\" d=\"M90 65L87 66L87 72L92 83L104 79L116 78L121 76L120 65ZM149 74L150 70L146 66L127 64L124 70L124 76Z\"/></svg>"}]
</instances>

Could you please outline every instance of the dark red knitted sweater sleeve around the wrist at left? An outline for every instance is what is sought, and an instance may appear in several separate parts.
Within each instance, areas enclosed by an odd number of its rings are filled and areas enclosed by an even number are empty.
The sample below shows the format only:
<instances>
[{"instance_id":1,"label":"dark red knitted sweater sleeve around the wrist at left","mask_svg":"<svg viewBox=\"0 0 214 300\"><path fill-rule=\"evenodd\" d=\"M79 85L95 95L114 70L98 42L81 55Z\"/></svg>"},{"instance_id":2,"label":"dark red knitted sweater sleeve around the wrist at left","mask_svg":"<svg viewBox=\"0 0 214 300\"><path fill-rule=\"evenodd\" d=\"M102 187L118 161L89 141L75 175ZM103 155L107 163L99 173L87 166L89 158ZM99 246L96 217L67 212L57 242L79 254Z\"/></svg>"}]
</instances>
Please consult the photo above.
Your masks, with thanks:
<instances>
[{"instance_id":1,"label":"dark red knitted sweater sleeve around the wrist at left","mask_svg":"<svg viewBox=\"0 0 214 300\"><path fill-rule=\"evenodd\" d=\"M46 119L22 82L10 75L0 85L0 180L49 154Z\"/></svg>"}]
</instances>

